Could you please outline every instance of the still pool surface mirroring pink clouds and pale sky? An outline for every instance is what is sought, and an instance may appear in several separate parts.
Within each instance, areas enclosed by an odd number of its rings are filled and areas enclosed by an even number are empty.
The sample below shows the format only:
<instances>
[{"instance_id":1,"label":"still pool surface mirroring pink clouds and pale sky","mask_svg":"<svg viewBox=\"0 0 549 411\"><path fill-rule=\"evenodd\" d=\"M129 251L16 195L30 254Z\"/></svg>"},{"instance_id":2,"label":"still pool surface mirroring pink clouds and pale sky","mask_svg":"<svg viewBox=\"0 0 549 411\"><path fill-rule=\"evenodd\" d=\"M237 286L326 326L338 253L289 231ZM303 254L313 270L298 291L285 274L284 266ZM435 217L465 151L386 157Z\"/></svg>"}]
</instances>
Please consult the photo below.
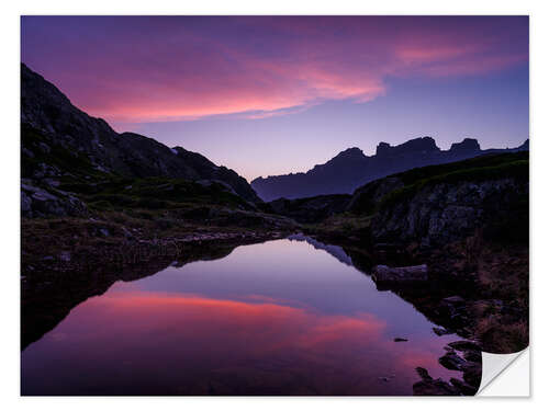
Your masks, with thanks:
<instances>
[{"instance_id":1,"label":"still pool surface mirroring pink clouds and pale sky","mask_svg":"<svg viewBox=\"0 0 549 411\"><path fill-rule=\"evenodd\" d=\"M411 395L417 366L459 376L438 364L456 335L328 251L276 240L115 283L24 350L22 393Z\"/></svg>"}]
</instances>

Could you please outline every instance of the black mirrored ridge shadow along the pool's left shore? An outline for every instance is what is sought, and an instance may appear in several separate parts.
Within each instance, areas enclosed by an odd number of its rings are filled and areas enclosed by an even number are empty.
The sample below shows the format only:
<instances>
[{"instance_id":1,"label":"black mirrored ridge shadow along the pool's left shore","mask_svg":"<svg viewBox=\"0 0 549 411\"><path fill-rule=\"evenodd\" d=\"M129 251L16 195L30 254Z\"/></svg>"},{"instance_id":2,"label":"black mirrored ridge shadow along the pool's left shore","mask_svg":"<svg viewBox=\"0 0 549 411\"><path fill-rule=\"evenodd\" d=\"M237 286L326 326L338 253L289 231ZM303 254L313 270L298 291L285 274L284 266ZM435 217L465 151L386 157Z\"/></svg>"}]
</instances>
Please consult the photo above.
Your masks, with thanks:
<instances>
[{"instance_id":1,"label":"black mirrored ridge shadow along the pool's left shore","mask_svg":"<svg viewBox=\"0 0 549 411\"><path fill-rule=\"evenodd\" d=\"M71 253L63 244L57 244L55 253L52 249L37 250L42 252L34 253L32 263L22 256L21 349L25 350L55 328L77 305L105 293L116 281L154 275L176 262L182 265L223 258L239 246L288 235L290 231L280 230L188 232L177 238L131 242L111 239L108 248L83 249L94 253L82 250Z\"/></svg>"}]
</instances>

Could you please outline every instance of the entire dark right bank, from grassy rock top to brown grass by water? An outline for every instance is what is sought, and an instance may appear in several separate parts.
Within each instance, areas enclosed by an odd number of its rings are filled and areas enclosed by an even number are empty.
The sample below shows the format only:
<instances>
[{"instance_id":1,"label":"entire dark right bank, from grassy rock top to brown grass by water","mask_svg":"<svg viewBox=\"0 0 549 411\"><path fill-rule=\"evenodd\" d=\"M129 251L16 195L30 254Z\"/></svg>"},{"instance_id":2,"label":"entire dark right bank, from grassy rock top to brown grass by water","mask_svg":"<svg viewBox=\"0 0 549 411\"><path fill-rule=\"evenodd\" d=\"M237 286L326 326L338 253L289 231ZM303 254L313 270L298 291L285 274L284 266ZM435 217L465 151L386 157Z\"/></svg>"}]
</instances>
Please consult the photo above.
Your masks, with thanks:
<instances>
[{"instance_id":1,"label":"entire dark right bank, from grassy rock top to brown grass by water","mask_svg":"<svg viewBox=\"0 0 549 411\"><path fill-rule=\"evenodd\" d=\"M339 218L348 225L368 221L359 247L372 252L363 271L371 273L380 263L425 262L428 281L421 287L405 286L396 276L382 288L442 326L435 329L439 335L474 338L492 353L524 350L529 341L528 157L500 153L429 165L357 190ZM394 274L376 267L373 277L385 272ZM471 351L462 358L479 361Z\"/></svg>"}]
</instances>

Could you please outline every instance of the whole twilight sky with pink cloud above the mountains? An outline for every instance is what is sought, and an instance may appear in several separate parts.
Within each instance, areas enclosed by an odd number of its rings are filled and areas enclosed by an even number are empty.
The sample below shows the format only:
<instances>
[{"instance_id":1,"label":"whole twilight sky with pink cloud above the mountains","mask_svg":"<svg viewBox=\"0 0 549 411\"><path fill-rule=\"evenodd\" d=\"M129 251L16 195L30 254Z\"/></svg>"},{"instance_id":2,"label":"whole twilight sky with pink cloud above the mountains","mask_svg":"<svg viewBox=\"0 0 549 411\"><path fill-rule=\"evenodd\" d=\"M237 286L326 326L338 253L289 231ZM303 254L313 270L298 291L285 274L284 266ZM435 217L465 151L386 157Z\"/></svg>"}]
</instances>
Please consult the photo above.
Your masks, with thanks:
<instances>
[{"instance_id":1,"label":"whole twilight sky with pink cloud above the mountains","mask_svg":"<svg viewBox=\"0 0 549 411\"><path fill-rule=\"evenodd\" d=\"M349 147L529 137L527 16L22 16L21 59L116 132L257 176Z\"/></svg>"}]
</instances>

